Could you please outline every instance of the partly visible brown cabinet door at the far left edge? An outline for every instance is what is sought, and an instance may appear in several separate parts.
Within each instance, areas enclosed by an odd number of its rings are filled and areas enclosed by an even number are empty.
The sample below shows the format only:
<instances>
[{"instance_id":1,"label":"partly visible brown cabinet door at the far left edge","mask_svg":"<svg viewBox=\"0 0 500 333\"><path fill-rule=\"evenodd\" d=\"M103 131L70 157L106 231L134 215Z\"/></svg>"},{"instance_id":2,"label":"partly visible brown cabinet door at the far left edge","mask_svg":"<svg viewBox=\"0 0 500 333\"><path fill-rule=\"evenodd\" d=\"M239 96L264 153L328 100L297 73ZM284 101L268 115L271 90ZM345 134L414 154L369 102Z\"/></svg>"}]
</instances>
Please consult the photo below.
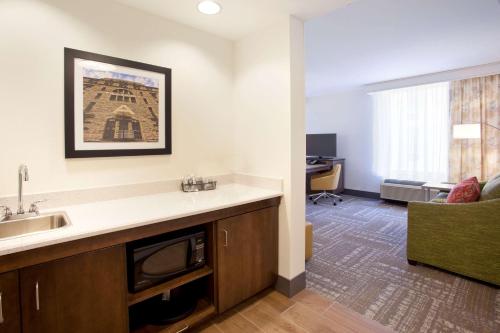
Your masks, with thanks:
<instances>
[{"instance_id":1,"label":"partly visible brown cabinet door at the far left edge","mask_svg":"<svg viewBox=\"0 0 500 333\"><path fill-rule=\"evenodd\" d=\"M21 332L17 271L0 274L0 332Z\"/></svg>"}]
</instances>

